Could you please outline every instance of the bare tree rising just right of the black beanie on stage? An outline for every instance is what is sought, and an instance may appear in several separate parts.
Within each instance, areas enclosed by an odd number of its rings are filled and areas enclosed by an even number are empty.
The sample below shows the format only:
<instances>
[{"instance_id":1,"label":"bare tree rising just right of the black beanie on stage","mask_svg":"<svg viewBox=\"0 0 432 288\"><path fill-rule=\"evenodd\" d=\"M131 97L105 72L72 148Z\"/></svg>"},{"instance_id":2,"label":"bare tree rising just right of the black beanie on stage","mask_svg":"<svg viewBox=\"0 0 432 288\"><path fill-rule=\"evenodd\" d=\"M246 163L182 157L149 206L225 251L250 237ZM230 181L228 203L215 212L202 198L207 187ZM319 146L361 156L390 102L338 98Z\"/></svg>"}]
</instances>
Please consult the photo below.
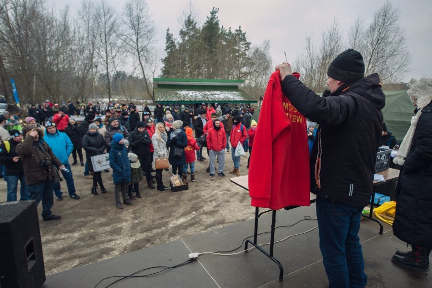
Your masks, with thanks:
<instances>
[{"instance_id":1,"label":"bare tree rising just right of the black beanie on stage","mask_svg":"<svg viewBox=\"0 0 432 288\"><path fill-rule=\"evenodd\" d=\"M367 28L362 19L356 19L349 35L349 44L363 54L365 74L378 73L387 83L400 81L411 62L399 17L399 9L387 1Z\"/></svg>"}]
</instances>

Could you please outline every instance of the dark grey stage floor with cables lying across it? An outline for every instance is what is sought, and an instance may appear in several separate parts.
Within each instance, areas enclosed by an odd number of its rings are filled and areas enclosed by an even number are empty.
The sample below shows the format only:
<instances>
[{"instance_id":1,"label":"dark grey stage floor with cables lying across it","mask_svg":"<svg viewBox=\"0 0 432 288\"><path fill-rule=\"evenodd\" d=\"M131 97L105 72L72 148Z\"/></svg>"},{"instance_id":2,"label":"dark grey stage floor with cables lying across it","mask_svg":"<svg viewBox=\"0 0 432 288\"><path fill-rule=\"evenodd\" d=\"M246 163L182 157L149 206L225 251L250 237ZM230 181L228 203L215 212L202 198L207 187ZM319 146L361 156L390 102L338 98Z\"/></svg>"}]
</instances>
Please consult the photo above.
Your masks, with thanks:
<instances>
[{"instance_id":1,"label":"dark grey stage floor with cables lying across it","mask_svg":"<svg viewBox=\"0 0 432 288\"><path fill-rule=\"evenodd\" d=\"M251 213L254 208L251 207ZM277 212L276 226L292 225L305 216L315 218L315 205ZM260 218L259 232L270 231L271 214ZM293 227L278 228L275 241L313 229L316 220L297 223ZM420 275L395 266L391 261L397 249L405 243L393 236L391 226L384 223L384 235L378 234L377 223L363 220L359 233L364 251L368 287L430 287L430 274ZM231 250L254 233L254 220L237 223L210 232L136 251L109 260L77 267L47 276L44 288L94 287L109 276L129 275L153 266L175 266L189 259L191 252ZM258 243L270 242L270 234L259 236ZM242 247L244 245L241 245ZM249 245L249 247L251 247ZM269 246L264 246L268 251ZM237 250L238 251L238 250ZM282 264L283 281L279 269L257 249L231 256L200 255L194 262L150 277L128 278L110 287L326 287L327 276L322 266L318 246L318 229L290 237L276 243L274 257ZM152 269L136 275L150 274ZM106 287L117 278L102 281L97 287Z\"/></svg>"}]
</instances>

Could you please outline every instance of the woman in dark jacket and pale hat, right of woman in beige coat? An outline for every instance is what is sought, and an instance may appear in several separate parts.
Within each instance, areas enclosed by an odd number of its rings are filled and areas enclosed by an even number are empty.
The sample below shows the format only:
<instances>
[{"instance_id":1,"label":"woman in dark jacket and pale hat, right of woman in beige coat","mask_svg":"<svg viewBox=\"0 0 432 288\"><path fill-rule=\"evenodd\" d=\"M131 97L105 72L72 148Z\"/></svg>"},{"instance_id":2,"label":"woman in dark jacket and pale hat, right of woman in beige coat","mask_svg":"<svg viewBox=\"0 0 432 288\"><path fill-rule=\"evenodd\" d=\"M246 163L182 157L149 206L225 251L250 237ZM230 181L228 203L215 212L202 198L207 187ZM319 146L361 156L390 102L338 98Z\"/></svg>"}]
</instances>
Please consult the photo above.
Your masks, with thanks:
<instances>
[{"instance_id":1,"label":"woman in dark jacket and pale hat, right of woman in beige coat","mask_svg":"<svg viewBox=\"0 0 432 288\"><path fill-rule=\"evenodd\" d=\"M183 166L186 164L185 147L188 146L188 137L182 130L183 121L175 120L172 122L172 131L168 135L166 146L170 147L168 161L172 166L172 174L178 174L180 177L183 175ZM175 156L175 148L182 149L182 155Z\"/></svg>"}]
</instances>

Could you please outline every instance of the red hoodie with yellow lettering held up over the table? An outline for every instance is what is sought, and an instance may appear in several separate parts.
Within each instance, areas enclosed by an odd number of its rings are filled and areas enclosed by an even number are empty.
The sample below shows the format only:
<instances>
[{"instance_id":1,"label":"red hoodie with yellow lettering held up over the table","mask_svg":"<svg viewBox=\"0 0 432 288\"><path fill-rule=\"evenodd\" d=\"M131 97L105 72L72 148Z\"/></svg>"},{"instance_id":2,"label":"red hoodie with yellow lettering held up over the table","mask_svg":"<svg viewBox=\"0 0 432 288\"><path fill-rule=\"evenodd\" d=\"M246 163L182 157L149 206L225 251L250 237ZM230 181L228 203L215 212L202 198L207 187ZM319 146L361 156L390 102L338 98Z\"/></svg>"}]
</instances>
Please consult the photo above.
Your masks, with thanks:
<instances>
[{"instance_id":1,"label":"red hoodie with yellow lettering held up over the table","mask_svg":"<svg viewBox=\"0 0 432 288\"><path fill-rule=\"evenodd\" d=\"M249 165L251 206L309 206L306 119L282 94L279 71L267 84L259 122Z\"/></svg>"}]
</instances>

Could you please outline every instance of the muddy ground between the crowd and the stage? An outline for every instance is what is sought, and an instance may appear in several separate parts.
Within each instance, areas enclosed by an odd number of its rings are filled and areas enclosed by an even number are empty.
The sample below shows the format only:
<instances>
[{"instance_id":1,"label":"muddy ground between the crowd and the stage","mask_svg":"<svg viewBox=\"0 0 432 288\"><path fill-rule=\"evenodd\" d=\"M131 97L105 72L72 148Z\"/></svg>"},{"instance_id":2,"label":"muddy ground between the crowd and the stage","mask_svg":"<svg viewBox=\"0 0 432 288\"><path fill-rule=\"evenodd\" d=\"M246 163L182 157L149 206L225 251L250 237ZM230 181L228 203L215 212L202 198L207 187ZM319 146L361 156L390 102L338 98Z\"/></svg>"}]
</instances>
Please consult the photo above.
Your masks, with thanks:
<instances>
[{"instance_id":1,"label":"muddy ground between the crowd and the stage","mask_svg":"<svg viewBox=\"0 0 432 288\"><path fill-rule=\"evenodd\" d=\"M80 200L68 197L62 183L63 201L54 197L52 211L60 220L42 221L42 204L38 216L47 275L77 266L116 257L121 254L181 239L251 219L255 209L250 206L246 190L230 182L233 174L231 152L226 153L225 174L209 178L205 162L195 163L196 182L189 190L172 193L150 189L141 182L141 199L133 205L115 207L114 184L109 173L102 172L107 194L90 193L92 179L84 178L84 167L72 166L75 187ZM241 157L240 173L247 174L248 152ZM84 156L85 158L85 156ZM72 163L69 158L69 163ZM171 171L163 171L163 182L169 184ZM6 201L6 182L0 181L0 201ZM19 199L19 189L18 189Z\"/></svg>"}]
</instances>

